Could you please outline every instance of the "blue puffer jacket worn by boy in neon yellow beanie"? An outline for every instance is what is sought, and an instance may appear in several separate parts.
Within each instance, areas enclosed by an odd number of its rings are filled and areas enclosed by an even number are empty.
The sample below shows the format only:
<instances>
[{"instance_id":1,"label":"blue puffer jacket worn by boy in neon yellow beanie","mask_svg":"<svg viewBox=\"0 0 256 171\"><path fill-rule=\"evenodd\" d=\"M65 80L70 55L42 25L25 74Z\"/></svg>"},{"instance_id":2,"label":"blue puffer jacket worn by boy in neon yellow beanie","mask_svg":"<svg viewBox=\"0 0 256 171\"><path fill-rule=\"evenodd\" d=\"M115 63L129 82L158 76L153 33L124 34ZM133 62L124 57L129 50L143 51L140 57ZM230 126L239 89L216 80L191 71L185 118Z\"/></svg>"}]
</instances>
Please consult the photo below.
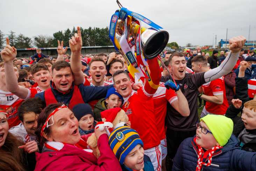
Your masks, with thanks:
<instances>
[{"instance_id":1,"label":"blue puffer jacket worn by boy in neon yellow beanie","mask_svg":"<svg viewBox=\"0 0 256 171\"><path fill-rule=\"evenodd\" d=\"M237 144L237 138L232 135L228 143L213 154L212 165L202 166L201 171L256 171L256 153L239 150ZM195 171L198 160L195 148L193 138L186 138L173 159L172 171Z\"/></svg>"}]
</instances>

